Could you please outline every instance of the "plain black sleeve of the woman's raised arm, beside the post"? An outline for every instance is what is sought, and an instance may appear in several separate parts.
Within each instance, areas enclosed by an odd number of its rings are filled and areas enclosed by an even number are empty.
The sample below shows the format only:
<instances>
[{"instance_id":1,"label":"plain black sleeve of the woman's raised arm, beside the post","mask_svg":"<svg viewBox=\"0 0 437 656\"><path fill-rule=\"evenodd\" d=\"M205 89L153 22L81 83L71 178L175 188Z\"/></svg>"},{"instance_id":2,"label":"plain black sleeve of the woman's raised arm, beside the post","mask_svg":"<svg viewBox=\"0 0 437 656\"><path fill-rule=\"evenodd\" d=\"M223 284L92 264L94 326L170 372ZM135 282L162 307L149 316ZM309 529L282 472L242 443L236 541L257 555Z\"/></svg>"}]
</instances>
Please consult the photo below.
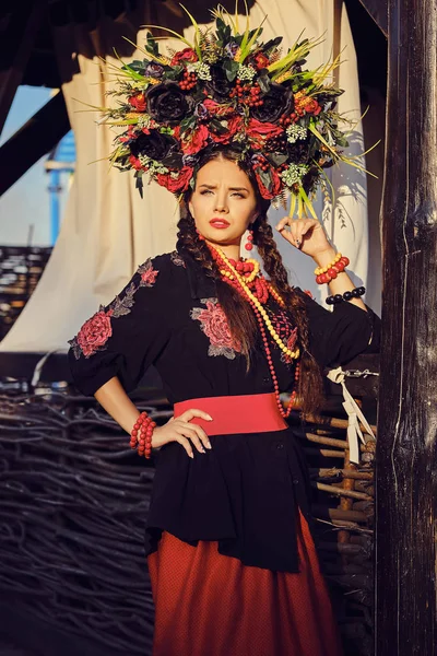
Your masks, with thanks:
<instances>
[{"instance_id":1,"label":"plain black sleeve of the woman's raised arm, beside the post","mask_svg":"<svg viewBox=\"0 0 437 656\"><path fill-rule=\"evenodd\" d=\"M380 344L380 319L367 305L367 312L353 303L334 305L330 312L305 294L309 321L309 351L321 366L350 362L361 353L376 353Z\"/></svg>"}]
</instances>

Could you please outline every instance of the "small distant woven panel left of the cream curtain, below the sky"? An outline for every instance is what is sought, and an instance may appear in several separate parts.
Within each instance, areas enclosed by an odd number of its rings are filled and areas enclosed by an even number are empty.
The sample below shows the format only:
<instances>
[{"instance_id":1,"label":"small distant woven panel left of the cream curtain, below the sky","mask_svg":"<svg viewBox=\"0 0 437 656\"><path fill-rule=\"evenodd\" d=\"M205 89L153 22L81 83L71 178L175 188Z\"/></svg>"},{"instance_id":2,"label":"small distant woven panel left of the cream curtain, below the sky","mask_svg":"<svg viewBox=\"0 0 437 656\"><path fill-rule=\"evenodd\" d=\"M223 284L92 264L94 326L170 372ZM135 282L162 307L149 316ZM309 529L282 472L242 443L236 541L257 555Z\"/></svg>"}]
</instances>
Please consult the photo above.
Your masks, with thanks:
<instances>
[{"instance_id":1,"label":"small distant woven panel left of the cream curtain, below the sky","mask_svg":"<svg viewBox=\"0 0 437 656\"><path fill-rule=\"evenodd\" d=\"M38 284L51 250L51 246L0 246L0 341Z\"/></svg>"}]
</instances>

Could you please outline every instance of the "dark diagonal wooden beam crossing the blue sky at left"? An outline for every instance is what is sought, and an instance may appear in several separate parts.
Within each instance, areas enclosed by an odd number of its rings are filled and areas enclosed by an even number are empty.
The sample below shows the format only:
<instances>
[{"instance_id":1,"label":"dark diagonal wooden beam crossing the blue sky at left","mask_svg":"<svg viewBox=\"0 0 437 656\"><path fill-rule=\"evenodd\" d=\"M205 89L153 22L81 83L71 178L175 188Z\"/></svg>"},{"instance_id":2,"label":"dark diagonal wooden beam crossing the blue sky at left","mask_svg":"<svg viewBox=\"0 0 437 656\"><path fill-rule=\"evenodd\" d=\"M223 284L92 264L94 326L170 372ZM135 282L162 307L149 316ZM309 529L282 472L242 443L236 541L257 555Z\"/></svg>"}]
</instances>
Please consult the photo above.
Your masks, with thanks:
<instances>
[{"instance_id":1,"label":"dark diagonal wooden beam crossing the blue sky at left","mask_svg":"<svg viewBox=\"0 0 437 656\"><path fill-rule=\"evenodd\" d=\"M69 130L66 101L59 92L0 148L0 196Z\"/></svg>"}]
</instances>

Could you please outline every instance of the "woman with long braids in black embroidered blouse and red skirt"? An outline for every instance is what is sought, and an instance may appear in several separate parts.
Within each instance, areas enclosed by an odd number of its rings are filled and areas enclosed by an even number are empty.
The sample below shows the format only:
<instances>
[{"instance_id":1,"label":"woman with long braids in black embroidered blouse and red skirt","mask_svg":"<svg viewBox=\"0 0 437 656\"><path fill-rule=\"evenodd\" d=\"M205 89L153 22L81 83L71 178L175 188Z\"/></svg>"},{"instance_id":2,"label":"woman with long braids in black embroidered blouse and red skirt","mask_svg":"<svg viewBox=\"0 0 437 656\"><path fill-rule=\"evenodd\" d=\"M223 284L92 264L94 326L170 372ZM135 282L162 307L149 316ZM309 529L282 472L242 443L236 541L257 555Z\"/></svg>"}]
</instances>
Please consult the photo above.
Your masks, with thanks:
<instances>
[{"instance_id":1,"label":"woman with long braids in black embroidered blouse and red skirt","mask_svg":"<svg viewBox=\"0 0 437 656\"><path fill-rule=\"evenodd\" d=\"M359 296L330 313L287 285L253 180L231 149L208 153L177 250L139 267L69 353L79 389L128 433L139 411L126 393L150 364L175 405L152 434L161 447L146 529L154 656L341 654L309 532L305 464L277 390L297 390L314 408L320 367L365 351L375 315ZM299 359L260 328L221 273L226 260L236 270L248 229L272 283L262 306L282 342L292 352L299 345ZM317 267L335 258L315 220L284 219L277 230ZM261 273L255 291L257 280ZM330 282L332 294L353 289L345 271Z\"/></svg>"}]
</instances>

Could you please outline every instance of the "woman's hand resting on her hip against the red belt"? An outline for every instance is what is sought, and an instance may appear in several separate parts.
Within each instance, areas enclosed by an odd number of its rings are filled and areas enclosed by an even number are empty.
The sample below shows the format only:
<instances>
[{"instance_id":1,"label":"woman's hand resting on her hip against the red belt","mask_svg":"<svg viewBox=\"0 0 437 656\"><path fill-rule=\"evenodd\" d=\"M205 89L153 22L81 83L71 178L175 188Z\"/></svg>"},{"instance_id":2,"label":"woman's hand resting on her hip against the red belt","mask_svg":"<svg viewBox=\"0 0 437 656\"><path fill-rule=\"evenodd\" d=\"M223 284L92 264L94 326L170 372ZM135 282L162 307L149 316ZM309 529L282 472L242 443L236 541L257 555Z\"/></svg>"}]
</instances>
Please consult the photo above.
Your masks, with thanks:
<instances>
[{"instance_id":1,"label":"woman's hand resting on her hip against the red belt","mask_svg":"<svg viewBox=\"0 0 437 656\"><path fill-rule=\"evenodd\" d=\"M163 426L156 426L153 431L152 435L152 446L153 448L163 446L168 442L179 442L190 456L190 458L194 457L192 452L192 445L196 446L198 452L204 454L204 447L211 448L211 442L208 437L206 433L201 426L197 424L189 423L191 419L194 417L199 417L200 419L204 419L205 421L212 421L212 417L203 410L186 410L182 412L180 417L175 419L172 417L169 421Z\"/></svg>"}]
</instances>

